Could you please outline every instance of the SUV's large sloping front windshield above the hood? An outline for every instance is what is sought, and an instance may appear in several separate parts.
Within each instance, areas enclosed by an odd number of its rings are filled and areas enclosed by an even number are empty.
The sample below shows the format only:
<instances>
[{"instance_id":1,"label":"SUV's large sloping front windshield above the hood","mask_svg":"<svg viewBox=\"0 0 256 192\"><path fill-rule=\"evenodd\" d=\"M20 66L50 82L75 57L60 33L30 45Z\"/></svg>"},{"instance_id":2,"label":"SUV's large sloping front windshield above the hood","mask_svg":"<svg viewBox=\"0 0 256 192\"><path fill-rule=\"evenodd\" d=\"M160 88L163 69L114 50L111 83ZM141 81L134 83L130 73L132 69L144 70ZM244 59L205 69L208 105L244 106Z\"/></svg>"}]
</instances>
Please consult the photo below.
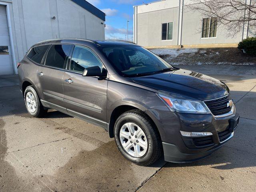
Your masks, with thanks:
<instances>
[{"instance_id":1,"label":"SUV's large sloping front windshield above the hood","mask_svg":"<svg viewBox=\"0 0 256 192\"><path fill-rule=\"evenodd\" d=\"M108 61L123 76L142 76L174 70L170 64L140 46L100 46Z\"/></svg>"}]
</instances>

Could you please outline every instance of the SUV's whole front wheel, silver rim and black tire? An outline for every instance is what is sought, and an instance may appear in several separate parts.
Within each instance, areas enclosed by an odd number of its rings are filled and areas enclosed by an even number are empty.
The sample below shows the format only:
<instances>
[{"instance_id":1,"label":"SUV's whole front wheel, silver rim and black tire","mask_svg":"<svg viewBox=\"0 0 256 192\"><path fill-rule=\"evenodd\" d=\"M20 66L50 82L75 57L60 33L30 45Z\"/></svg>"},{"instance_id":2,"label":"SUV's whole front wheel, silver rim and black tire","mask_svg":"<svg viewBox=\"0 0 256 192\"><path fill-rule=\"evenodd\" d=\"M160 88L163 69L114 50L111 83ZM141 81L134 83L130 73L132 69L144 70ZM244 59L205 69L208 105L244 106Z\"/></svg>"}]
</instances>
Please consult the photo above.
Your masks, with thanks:
<instances>
[{"instance_id":1,"label":"SUV's whole front wheel, silver rim and black tire","mask_svg":"<svg viewBox=\"0 0 256 192\"><path fill-rule=\"evenodd\" d=\"M135 164L148 166L162 154L160 135L151 120L140 110L120 115L114 132L118 149Z\"/></svg>"}]
</instances>

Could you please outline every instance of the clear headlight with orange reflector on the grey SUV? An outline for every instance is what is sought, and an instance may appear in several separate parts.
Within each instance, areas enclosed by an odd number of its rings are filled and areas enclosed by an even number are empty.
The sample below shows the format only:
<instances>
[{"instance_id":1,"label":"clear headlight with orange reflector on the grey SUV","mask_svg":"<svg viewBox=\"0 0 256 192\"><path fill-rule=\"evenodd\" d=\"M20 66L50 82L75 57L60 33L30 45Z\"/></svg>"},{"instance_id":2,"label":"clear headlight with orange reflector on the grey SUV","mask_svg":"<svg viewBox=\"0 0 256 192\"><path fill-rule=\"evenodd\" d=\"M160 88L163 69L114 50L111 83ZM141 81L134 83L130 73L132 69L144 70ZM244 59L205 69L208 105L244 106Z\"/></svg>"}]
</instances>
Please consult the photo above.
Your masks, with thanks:
<instances>
[{"instance_id":1,"label":"clear headlight with orange reflector on the grey SUV","mask_svg":"<svg viewBox=\"0 0 256 192\"><path fill-rule=\"evenodd\" d=\"M175 112L181 112L181 113L202 113L202 114L210 113L208 111L208 108L204 105L204 103L170 98L162 94L158 94L158 96L166 104L166 106L173 112L175 111Z\"/></svg>"}]
</instances>

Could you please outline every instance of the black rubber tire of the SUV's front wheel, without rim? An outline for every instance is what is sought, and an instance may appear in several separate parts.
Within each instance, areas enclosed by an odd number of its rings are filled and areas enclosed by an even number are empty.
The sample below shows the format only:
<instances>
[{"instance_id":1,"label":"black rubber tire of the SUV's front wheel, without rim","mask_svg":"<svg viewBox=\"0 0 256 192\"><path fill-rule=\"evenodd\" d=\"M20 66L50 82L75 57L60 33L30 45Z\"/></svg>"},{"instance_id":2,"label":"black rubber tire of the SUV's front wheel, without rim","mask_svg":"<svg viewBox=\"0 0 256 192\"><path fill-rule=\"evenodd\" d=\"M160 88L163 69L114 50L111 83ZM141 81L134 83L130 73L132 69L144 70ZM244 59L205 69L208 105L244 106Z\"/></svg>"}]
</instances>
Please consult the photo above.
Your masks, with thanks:
<instances>
[{"instance_id":1,"label":"black rubber tire of the SUV's front wheel, without rim","mask_svg":"<svg viewBox=\"0 0 256 192\"><path fill-rule=\"evenodd\" d=\"M141 157L134 157L126 150L124 150L122 143L120 141L120 130L122 126L127 123L132 122L137 124L145 133L147 141L148 141L148 148L146 151L146 154L144 154ZM140 166L149 166L156 162L162 155L162 142L159 135L158 130L152 123L152 120L148 118L143 112L140 110L130 110L128 112L124 112L121 114L115 123L114 126L114 134L115 134L115 140L116 145L119 149L119 151L122 153L122 155L129 160L130 162L133 162L134 164L140 165Z\"/></svg>"}]
</instances>

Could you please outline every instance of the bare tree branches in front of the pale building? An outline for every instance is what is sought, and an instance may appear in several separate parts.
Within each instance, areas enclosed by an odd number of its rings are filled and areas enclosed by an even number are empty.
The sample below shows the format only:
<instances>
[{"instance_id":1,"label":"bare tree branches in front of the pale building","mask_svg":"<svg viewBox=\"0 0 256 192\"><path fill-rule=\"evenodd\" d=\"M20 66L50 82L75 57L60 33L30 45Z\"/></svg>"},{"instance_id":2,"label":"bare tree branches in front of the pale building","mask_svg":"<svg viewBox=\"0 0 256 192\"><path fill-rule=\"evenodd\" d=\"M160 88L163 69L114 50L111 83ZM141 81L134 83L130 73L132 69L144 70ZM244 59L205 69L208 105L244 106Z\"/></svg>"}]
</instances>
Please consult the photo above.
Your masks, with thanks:
<instances>
[{"instance_id":1,"label":"bare tree branches in front of the pale building","mask_svg":"<svg viewBox=\"0 0 256 192\"><path fill-rule=\"evenodd\" d=\"M256 27L256 0L190 0L186 7L204 16L216 17L227 36Z\"/></svg>"}]
</instances>

